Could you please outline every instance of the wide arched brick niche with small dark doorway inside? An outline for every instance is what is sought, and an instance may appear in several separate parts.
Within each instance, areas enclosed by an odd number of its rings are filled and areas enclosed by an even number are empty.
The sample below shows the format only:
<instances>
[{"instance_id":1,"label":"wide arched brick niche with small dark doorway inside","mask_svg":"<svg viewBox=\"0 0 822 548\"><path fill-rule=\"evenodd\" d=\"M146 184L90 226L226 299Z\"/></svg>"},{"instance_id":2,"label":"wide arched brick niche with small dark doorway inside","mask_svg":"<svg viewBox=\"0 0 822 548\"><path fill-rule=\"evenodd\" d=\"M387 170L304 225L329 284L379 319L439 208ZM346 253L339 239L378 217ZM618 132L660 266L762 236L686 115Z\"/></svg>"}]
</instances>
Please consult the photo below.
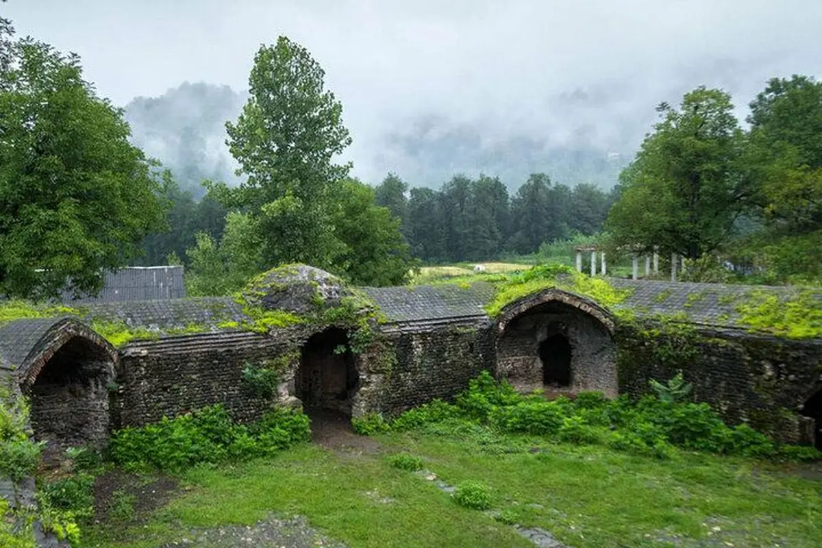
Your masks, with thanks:
<instances>
[{"instance_id":1,"label":"wide arched brick niche with small dark doorway inside","mask_svg":"<svg viewBox=\"0 0 822 548\"><path fill-rule=\"evenodd\" d=\"M617 394L614 323L595 302L547 289L506 306L496 327L497 375L515 388Z\"/></svg>"}]
</instances>

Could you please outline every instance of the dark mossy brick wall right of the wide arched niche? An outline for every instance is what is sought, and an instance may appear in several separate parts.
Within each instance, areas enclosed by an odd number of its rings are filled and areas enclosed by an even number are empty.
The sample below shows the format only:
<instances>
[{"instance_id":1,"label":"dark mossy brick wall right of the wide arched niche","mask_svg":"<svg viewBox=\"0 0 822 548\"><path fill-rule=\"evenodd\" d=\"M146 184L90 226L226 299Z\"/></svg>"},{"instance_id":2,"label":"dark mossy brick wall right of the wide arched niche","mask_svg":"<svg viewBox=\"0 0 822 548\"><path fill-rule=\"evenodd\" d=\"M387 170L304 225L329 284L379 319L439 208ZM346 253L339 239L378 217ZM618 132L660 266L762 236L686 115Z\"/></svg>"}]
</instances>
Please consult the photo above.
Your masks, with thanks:
<instances>
[{"instance_id":1,"label":"dark mossy brick wall right of the wide arched niche","mask_svg":"<svg viewBox=\"0 0 822 548\"><path fill-rule=\"evenodd\" d=\"M649 379L667 380L681 370L695 400L710 403L726 421L750 422L784 441L810 441L810 419L797 412L822 389L822 341L700 329L687 341L690 352L677 352L681 343L665 334L649 341L635 326L619 327L620 391L645 394ZM660 345L667 350L655 350Z\"/></svg>"}]
</instances>

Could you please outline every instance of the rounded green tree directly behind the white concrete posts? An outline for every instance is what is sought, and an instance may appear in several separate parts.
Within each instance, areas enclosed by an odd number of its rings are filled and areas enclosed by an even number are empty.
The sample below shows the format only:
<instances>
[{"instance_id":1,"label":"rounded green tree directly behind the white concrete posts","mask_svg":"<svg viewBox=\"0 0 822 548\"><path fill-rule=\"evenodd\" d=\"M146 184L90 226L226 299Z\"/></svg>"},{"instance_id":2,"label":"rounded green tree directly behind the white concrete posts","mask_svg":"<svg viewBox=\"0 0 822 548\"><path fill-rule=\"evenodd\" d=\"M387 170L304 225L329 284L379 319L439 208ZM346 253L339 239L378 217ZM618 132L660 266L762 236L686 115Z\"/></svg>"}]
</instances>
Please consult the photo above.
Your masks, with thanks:
<instances>
[{"instance_id":1,"label":"rounded green tree directly behind the white concrete posts","mask_svg":"<svg viewBox=\"0 0 822 548\"><path fill-rule=\"evenodd\" d=\"M722 90L697 88L680 108L661 104L658 113L655 131L621 174L621 199L606 226L619 245L695 259L727 243L749 207L744 135Z\"/></svg>"}]
</instances>

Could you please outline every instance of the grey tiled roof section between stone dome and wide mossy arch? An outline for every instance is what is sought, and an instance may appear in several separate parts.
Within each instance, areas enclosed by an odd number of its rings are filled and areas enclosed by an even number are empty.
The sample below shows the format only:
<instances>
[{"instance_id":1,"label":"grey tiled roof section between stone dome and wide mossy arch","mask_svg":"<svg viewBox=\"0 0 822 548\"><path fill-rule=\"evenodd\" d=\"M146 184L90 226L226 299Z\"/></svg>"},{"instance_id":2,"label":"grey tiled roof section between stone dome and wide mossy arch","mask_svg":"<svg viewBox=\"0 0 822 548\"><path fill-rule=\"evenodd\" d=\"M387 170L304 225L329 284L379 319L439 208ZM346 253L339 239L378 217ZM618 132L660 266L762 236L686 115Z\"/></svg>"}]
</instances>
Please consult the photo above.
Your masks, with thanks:
<instances>
[{"instance_id":1,"label":"grey tiled roof section between stone dome and wide mossy arch","mask_svg":"<svg viewBox=\"0 0 822 548\"><path fill-rule=\"evenodd\" d=\"M445 320L485 315L483 306L494 297L490 283L363 288L392 322Z\"/></svg>"}]
</instances>

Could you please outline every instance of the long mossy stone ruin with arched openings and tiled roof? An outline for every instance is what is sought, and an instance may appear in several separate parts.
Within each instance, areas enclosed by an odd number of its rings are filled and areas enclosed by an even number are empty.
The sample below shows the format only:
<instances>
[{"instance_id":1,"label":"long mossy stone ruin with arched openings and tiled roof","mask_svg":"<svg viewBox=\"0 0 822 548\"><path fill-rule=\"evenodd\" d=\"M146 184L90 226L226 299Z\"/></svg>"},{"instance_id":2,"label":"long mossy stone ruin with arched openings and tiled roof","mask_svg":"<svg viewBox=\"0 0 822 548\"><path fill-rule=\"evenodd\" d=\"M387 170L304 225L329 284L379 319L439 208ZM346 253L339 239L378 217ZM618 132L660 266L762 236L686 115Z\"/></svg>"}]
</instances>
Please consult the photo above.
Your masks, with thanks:
<instances>
[{"instance_id":1,"label":"long mossy stone ruin with arched openings and tiled roof","mask_svg":"<svg viewBox=\"0 0 822 548\"><path fill-rule=\"evenodd\" d=\"M83 300L79 315L0 325L0 382L30 398L34 435L48 441L47 456L215 403L238 421L277 404L392 416L453 397L483 370L521 390L609 396L642 394L650 379L682 370L695 398L732 423L801 443L814 443L822 426L822 340L752 331L734 305L750 292L784 298L791 288L612 279L630 289L614 310L547 288L492 318L484 308L496 292L491 283L346 288L298 265L271 271L243 299L191 298L179 296L177 274L141 274L149 285L159 275L161 293L130 282L131 289ZM293 321L317 306L334 310L350 293L376 310ZM679 317L668 329L637 327L672 314ZM115 348L92 328L99 320L136 336ZM372 333L356 352L348 344L354 325L370 325ZM275 369L275 390L253 390L248 368Z\"/></svg>"}]
</instances>

